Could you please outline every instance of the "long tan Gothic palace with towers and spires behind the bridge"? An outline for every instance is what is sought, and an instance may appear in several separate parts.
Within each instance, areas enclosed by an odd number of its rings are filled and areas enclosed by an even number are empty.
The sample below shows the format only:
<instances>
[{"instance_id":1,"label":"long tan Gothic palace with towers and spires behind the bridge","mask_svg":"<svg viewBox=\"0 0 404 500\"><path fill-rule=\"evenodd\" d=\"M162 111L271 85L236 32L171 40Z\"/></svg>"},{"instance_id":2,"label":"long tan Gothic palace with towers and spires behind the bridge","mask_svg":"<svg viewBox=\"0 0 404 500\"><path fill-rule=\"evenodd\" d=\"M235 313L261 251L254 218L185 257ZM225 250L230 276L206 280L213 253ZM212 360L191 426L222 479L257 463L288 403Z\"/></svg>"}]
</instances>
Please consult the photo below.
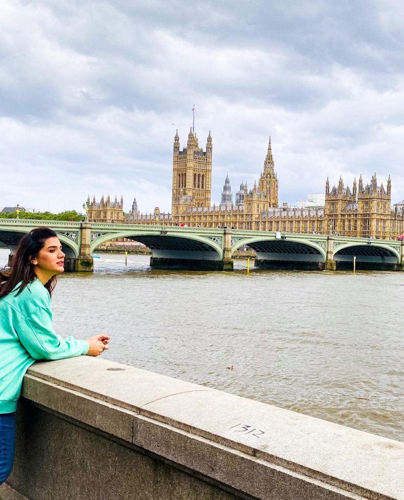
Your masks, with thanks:
<instances>
[{"instance_id":1,"label":"long tan Gothic palace with towers and spires behind the bridge","mask_svg":"<svg viewBox=\"0 0 404 500\"><path fill-rule=\"evenodd\" d=\"M94 222L128 222L135 224L187 225L200 227L231 227L281 232L316 232L374 238L393 238L404 229L404 201L395 204L392 210L391 180L386 188L377 185L376 174L369 184L363 185L362 176L353 181L352 189L344 186L339 178L338 185L330 189L325 182L324 205L297 208L278 203L278 179L269 139L263 170L258 183L248 189L241 183L235 193L226 176L221 202L210 204L212 174L212 138L207 136L206 149L198 145L196 134L191 130L186 147L179 148L178 132L174 137L172 162L172 210L161 213L140 214L136 200L129 213L123 212L123 199L109 195L96 202L95 196L87 199L87 216Z\"/></svg>"}]
</instances>

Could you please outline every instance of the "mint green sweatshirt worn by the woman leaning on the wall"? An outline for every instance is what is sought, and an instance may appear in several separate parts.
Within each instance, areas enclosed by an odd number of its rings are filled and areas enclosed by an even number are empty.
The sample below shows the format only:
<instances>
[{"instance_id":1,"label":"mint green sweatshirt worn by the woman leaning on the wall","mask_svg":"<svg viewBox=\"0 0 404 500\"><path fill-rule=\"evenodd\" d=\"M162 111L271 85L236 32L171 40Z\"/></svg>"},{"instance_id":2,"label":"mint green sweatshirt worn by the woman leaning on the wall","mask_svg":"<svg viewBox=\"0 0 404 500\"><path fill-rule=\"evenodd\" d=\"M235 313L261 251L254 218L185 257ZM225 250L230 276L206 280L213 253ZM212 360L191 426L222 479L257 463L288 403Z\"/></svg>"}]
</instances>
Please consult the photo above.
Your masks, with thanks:
<instances>
[{"instance_id":1,"label":"mint green sweatshirt worn by the woman leaning on the wall","mask_svg":"<svg viewBox=\"0 0 404 500\"><path fill-rule=\"evenodd\" d=\"M22 378L37 359L61 359L88 352L88 342L63 339L53 330L50 296L35 279L0 298L0 413L15 411Z\"/></svg>"}]
</instances>

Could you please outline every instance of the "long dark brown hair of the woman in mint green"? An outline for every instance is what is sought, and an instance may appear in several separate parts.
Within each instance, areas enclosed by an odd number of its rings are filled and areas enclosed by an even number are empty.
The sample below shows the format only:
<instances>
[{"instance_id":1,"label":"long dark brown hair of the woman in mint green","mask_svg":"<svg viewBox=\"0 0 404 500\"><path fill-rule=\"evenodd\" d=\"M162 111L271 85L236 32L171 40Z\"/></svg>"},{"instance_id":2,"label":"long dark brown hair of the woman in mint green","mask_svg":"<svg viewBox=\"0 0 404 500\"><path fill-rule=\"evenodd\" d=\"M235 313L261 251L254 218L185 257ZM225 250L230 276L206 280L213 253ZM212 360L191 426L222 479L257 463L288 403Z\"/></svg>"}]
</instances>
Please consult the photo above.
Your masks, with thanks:
<instances>
[{"instance_id":1,"label":"long dark brown hair of the woman in mint green","mask_svg":"<svg viewBox=\"0 0 404 500\"><path fill-rule=\"evenodd\" d=\"M22 236L12 256L10 267L0 270L0 298L10 293L18 283L21 283L18 293L21 293L28 283L35 280L36 274L31 260L37 257L45 240L53 236L57 234L48 227L36 227ZM49 295L52 294L55 284L56 277L52 276L44 285Z\"/></svg>"}]
</instances>

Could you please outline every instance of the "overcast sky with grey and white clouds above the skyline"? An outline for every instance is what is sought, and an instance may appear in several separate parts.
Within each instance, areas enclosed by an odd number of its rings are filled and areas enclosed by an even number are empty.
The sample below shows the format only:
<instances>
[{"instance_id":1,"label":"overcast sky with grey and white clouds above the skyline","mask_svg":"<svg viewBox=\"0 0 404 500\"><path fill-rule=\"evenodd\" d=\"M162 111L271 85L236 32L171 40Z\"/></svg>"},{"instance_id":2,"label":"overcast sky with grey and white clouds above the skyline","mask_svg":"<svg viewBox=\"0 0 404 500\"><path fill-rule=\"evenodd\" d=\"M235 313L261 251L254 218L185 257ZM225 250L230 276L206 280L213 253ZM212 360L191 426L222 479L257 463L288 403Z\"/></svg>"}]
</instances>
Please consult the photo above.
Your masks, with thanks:
<instances>
[{"instance_id":1,"label":"overcast sky with grey and white clouds above the skyline","mask_svg":"<svg viewBox=\"0 0 404 500\"><path fill-rule=\"evenodd\" d=\"M391 176L404 198L400 0L0 0L0 206L89 194L171 209L172 143L213 141L252 187L271 136L279 203Z\"/></svg>"}]
</instances>

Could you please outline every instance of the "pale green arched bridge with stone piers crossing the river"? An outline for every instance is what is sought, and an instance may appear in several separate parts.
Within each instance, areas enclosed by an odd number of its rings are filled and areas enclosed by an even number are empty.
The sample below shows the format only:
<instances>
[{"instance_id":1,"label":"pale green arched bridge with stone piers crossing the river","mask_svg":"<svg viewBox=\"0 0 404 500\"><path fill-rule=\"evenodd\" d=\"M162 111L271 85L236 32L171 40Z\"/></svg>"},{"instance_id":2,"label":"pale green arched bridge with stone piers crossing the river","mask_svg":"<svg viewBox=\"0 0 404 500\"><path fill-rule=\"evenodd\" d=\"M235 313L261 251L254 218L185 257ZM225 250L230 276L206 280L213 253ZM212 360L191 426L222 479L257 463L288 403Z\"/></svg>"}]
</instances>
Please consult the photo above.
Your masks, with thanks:
<instances>
[{"instance_id":1,"label":"pale green arched bridge with stone piers crossing the river","mask_svg":"<svg viewBox=\"0 0 404 500\"><path fill-rule=\"evenodd\" d=\"M150 265L160 268L232 270L235 250L248 246L255 267L308 270L404 270L404 242L327 234L252 231L208 227L0 219L0 241L10 255L23 234L34 227L51 227L63 246L65 269L92 271L91 253L108 240L125 237L150 248Z\"/></svg>"}]
</instances>

